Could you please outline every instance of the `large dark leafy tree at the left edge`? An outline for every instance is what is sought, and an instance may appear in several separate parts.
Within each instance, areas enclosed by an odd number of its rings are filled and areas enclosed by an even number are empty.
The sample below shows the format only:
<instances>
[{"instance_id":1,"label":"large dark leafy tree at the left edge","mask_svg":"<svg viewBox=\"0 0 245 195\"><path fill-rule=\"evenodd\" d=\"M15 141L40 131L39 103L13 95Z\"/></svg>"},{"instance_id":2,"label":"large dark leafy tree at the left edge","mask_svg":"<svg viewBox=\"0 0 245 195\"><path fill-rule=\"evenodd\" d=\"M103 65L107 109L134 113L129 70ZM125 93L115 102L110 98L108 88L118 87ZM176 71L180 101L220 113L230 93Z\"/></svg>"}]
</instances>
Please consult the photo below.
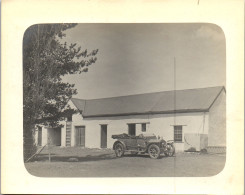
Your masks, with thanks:
<instances>
[{"instance_id":1,"label":"large dark leafy tree at the left edge","mask_svg":"<svg viewBox=\"0 0 245 195\"><path fill-rule=\"evenodd\" d=\"M88 52L76 44L62 43L64 31L77 24L37 24L23 38L24 159L35 152L35 125L57 126L72 110L67 102L77 93L62 76L87 72L98 49Z\"/></svg>"}]
</instances>

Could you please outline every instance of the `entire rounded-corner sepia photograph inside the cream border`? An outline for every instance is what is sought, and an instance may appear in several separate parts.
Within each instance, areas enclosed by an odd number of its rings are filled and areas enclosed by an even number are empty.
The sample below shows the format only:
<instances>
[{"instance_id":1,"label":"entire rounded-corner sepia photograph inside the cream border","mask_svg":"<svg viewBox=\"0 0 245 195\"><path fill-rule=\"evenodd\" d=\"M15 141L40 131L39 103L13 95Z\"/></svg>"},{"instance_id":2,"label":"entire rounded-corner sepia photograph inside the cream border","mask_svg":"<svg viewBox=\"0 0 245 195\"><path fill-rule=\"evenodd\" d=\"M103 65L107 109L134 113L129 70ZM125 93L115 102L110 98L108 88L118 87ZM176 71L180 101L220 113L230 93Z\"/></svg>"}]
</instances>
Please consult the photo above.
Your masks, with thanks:
<instances>
[{"instance_id":1,"label":"entire rounded-corner sepia photograph inside the cream border","mask_svg":"<svg viewBox=\"0 0 245 195\"><path fill-rule=\"evenodd\" d=\"M23 160L38 177L211 177L226 162L211 23L50 23L23 36Z\"/></svg>"}]
</instances>

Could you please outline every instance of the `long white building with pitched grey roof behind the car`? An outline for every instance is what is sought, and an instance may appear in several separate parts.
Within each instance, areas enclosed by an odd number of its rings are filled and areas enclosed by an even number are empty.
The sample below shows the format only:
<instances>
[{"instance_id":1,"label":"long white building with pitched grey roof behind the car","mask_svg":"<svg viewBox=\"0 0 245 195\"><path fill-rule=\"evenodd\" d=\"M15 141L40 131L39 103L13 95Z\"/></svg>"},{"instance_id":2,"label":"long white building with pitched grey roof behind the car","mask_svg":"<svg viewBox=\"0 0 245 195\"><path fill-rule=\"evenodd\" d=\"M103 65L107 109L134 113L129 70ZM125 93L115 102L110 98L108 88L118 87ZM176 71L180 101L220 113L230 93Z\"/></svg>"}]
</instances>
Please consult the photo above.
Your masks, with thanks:
<instances>
[{"instance_id":1,"label":"long white building with pitched grey roof behind the car","mask_svg":"<svg viewBox=\"0 0 245 195\"><path fill-rule=\"evenodd\" d=\"M177 151L225 149L224 87L164 91L102 99L71 99L79 114L63 128L40 127L39 145L112 148L113 134L154 133L174 140Z\"/></svg>"}]
</instances>

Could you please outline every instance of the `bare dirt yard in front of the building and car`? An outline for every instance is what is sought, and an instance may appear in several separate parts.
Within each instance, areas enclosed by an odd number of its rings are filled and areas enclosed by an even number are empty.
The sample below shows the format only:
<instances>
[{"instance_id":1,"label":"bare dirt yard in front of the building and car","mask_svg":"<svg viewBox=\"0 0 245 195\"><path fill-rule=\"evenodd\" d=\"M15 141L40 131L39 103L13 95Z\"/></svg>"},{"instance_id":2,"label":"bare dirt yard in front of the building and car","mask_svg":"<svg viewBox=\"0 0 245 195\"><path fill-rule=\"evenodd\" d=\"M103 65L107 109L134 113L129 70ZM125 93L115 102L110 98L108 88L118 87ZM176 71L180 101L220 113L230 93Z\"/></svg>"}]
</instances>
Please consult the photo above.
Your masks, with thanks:
<instances>
[{"instance_id":1,"label":"bare dirt yard in front of the building and car","mask_svg":"<svg viewBox=\"0 0 245 195\"><path fill-rule=\"evenodd\" d=\"M79 147L45 148L25 163L39 177L206 177L222 171L224 154L177 153L174 157L151 159L148 155L125 154L116 158L110 149Z\"/></svg>"}]
</instances>

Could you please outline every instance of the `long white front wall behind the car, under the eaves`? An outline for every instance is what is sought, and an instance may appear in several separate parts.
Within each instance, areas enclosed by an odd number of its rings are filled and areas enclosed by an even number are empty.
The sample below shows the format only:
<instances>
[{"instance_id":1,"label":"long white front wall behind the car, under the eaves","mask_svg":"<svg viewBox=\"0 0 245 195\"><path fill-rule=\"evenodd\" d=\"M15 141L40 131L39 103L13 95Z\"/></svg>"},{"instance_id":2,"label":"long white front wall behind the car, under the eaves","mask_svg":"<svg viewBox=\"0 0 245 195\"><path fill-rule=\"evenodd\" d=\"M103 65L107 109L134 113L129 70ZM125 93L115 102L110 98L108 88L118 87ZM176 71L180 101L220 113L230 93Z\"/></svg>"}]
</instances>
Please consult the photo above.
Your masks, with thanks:
<instances>
[{"instance_id":1,"label":"long white front wall behind the car, under the eaves","mask_svg":"<svg viewBox=\"0 0 245 195\"><path fill-rule=\"evenodd\" d=\"M176 114L174 122L173 114L154 114L154 115L134 115L116 117L95 117L82 118L80 114L73 115L72 118L72 140L71 145L75 144L75 126L85 126L85 147L100 148L100 124L107 124L107 147L112 148L114 134L128 133L128 123L147 123L146 133L154 133L162 136L165 140L173 140L173 125L183 125L184 133L208 134L208 113L184 113ZM141 124L136 124L136 135L141 132ZM65 139L65 138L62 138ZM183 151L184 143L176 143L176 150Z\"/></svg>"}]
</instances>

